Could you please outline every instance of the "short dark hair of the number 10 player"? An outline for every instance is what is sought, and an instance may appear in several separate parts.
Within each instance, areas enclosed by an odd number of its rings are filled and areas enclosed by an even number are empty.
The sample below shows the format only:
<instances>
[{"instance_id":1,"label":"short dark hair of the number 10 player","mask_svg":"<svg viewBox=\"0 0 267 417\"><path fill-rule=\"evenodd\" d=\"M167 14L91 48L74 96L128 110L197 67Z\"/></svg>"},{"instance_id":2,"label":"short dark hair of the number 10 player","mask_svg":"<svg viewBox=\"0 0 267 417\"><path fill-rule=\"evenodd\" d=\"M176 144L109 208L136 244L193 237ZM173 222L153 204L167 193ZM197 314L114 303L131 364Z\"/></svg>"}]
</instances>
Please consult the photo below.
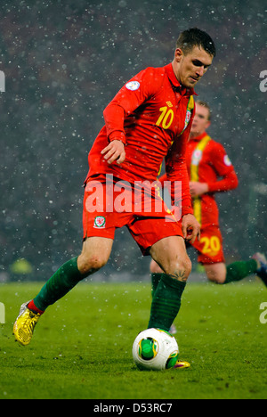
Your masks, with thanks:
<instances>
[{"instance_id":1,"label":"short dark hair of the number 10 player","mask_svg":"<svg viewBox=\"0 0 267 417\"><path fill-rule=\"evenodd\" d=\"M206 32L198 28L184 30L177 39L176 48L182 49L186 55L194 46L202 46L206 53L212 56L216 55L214 41Z\"/></svg>"}]
</instances>

